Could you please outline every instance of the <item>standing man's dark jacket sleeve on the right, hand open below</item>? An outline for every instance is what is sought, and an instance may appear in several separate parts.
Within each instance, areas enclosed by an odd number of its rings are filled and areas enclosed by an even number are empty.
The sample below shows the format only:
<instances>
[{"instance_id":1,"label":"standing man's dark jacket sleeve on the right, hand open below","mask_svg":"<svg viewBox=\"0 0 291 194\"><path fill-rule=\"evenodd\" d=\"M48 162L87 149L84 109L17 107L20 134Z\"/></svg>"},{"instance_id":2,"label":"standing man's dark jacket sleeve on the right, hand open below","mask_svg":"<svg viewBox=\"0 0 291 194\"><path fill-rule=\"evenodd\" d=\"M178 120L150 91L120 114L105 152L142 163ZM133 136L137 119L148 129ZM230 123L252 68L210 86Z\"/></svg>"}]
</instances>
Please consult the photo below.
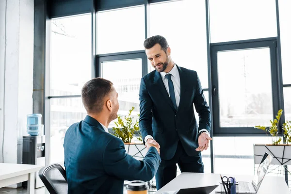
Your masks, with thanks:
<instances>
[{"instance_id":1,"label":"standing man's dark jacket sleeve on the right, hand open below","mask_svg":"<svg viewBox=\"0 0 291 194\"><path fill-rule=\"evenodd\" d=\"M195 91L195 96L194 96L194 106L196 109L196 112L199 115L199 128L198 131L201 129L207 129L210 132L210 128L211 128L211 114L210 114L210 108L206 102L206 99L203 95L203 90L202 90L202 86L201 86L201 82L199 80L199 77L197 75L197 72L195 72L196 74L196 91Z\"/></svg>"}]
</instances>

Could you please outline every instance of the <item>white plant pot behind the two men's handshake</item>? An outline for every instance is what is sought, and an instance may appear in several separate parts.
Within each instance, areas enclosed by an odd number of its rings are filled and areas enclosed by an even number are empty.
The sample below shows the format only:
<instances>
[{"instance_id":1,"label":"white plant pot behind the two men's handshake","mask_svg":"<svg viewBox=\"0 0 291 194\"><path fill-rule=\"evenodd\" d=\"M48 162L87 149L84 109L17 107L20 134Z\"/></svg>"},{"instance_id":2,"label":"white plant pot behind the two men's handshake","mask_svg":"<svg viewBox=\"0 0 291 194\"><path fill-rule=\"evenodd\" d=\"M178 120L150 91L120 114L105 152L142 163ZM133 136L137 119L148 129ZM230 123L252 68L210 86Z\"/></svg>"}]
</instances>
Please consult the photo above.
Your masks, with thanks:
<instances>
[{"instance_id":1,"label":"white plant pot behind the two men's handshake","mask_svg":"<svg viewBox=\"0 0 291 194\"><path fill-rule=\"evenodd\" d=\"M146 156L147 149L143 143L124 143L127 154L137 160L143 160Z\"/></svg>"}]
</instances>

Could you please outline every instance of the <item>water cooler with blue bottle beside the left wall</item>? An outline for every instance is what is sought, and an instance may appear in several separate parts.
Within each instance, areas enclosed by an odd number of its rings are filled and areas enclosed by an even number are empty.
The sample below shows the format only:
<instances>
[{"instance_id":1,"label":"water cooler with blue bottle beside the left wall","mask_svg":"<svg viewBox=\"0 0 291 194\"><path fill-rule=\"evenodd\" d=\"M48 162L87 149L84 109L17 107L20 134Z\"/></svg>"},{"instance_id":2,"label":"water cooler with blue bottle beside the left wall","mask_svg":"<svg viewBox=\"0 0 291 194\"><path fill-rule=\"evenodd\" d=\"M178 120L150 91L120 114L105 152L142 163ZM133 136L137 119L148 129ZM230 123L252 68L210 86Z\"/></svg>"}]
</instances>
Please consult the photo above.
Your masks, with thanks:
<instances>
[{"instance_id":1,"label":"water cooler with blue bottle beside the left wall","mask_svg":"<svg viewBox=\"0 0 291 194\"><path fill-rule=\"evenodd\" d=\"M46 136L43 135L43 125L41 125L41 114L27 115L27 132L28 136L22 138L22 163L36 164L45 166L45 145ZM38 176L38 171L35 172L35 188L44 186ZM27 187L27 181L22 182L22 187Z\"/></svg>"}]
</instances>

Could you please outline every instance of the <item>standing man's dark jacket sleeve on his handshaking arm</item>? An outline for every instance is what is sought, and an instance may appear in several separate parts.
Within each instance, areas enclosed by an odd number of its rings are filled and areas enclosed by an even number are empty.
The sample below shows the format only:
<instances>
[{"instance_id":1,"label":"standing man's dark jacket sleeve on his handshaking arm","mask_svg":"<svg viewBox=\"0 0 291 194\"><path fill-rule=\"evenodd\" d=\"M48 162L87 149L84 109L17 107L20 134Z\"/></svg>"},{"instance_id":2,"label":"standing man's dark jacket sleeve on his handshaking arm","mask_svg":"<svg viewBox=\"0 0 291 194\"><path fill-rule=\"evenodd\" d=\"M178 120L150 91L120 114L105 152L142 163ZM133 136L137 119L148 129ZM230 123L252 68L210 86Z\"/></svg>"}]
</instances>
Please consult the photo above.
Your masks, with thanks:
<instances>
[{"instance_id":1,"label":"standing man's dark jacket sleeve on his handshaking arm","mask_svg":"<svg viewBox=\"0 0 291 194\"><path fill-rule=\"evenodd\" d=\"M139 128L142 133L143 141L145 144L145 137L147 135L151 135L153 137L154 135L151 127L153 102L147 92L146 81L144 78L142 78L141 80L139 100L140 100Z\"/></svg>"}]
</instances>

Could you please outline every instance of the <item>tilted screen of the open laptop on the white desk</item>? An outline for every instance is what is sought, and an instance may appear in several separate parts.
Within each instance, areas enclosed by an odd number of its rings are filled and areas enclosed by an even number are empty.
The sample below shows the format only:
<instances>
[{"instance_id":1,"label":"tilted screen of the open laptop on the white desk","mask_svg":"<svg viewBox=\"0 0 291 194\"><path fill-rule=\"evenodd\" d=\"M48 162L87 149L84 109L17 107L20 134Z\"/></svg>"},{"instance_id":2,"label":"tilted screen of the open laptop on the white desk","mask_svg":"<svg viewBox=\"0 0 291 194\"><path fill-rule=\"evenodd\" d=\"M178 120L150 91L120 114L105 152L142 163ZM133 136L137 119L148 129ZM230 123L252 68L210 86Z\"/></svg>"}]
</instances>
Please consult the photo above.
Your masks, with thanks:
<instances>
[{"instance_id":1,"label":"tilted screen of the open laptop on the white desk","mask_svg":"<svg viewBox=\"0 0 291 194\"><path fill-rule=\"evenodd\" d=\"M261 163L259 164L259 167L257 170L257 175L254 177L254 179L252 181L252 184L253 184L256 192L258 191L259 186L261 185L262 180L265 177L272 160L273 160L273 156L269 155L268 153L265 153Z\"/></svg>"}]
</instances>

